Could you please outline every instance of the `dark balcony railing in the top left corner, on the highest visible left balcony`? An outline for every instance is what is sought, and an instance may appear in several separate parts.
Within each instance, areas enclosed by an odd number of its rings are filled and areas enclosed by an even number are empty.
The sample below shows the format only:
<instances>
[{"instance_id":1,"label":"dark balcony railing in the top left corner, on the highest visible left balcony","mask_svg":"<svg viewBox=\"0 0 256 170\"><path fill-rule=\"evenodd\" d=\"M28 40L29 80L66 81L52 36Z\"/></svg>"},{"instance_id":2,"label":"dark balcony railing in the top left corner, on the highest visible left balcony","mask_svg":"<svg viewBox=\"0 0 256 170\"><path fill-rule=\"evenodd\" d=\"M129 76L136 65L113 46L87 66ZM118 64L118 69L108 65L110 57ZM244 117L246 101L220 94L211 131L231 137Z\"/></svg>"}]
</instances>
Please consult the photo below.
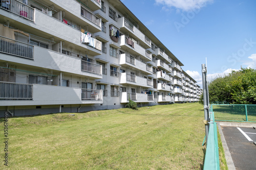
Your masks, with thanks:
<instances>
[{"instance_id":1,"label":"dark balcony railing in the top left corner, on the highest visible left balcony","mask_svg":"<svg viewBox=\"0 0 256 170\"><path fill-rule=\"evenodd\" d=\"M2 4L0 8L8 10L26 19L34 21L34 8L31 8L30 6L22 2L19 2L16 0L10 0L10 5L4 6L4 4Z\"/></svg>"}]
</instances>

